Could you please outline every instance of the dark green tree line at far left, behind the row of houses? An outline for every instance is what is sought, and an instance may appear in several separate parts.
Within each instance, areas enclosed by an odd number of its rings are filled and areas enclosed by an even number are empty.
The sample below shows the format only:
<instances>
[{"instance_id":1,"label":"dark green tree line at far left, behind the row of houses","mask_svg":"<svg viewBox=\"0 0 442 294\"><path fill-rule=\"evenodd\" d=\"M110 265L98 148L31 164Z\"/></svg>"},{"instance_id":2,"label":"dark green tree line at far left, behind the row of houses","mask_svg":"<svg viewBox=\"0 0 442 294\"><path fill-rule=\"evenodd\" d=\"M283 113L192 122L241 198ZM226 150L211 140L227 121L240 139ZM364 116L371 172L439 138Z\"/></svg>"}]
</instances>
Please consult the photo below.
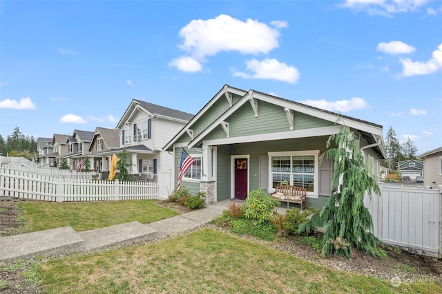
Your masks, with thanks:
<instances>
[{"instance_id":1,"label":"dark green tree line at far left, behind the row of houses","mask_svg":"<svg viewBox=\"0 0 442 294\"><path fill-rule=\"evenodd\" d=\"M20 128L15 127L6 140L0 135L0 154L32 160L37 154L37 140L34 136L23 135Z\"/></svg>"}]
</instances>

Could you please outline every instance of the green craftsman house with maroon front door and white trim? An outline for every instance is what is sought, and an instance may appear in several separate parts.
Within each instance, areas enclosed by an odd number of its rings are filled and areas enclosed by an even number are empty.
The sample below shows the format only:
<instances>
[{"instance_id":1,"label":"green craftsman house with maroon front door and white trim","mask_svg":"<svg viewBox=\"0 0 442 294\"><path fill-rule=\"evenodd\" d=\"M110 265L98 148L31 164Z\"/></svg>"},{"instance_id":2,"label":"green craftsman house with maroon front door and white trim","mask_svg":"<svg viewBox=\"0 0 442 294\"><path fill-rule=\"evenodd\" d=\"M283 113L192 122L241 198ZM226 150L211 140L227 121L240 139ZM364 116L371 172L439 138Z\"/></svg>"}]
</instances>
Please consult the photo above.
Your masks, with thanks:
<instances>
[{"instance_id":1,"label":"green craftsman house with maroon front door and white trim","mask_svg":"<svg viewBox=\"0 0 442 294\"><path fill-rule=\"evenodd\" d=\"M356 134L356 143L378 177L379 162L385 158L381 125L229 85L204 105L164 151L175 158L175 187L182 148L195 160L180 187L193 194L206 192L207 204L244 199L254 189L270 193L287 180L307 189L307 207L321 208L333 191L333 162L320 162L320 156L329 136L342 125Z\"/></svg>"}]
</instances>

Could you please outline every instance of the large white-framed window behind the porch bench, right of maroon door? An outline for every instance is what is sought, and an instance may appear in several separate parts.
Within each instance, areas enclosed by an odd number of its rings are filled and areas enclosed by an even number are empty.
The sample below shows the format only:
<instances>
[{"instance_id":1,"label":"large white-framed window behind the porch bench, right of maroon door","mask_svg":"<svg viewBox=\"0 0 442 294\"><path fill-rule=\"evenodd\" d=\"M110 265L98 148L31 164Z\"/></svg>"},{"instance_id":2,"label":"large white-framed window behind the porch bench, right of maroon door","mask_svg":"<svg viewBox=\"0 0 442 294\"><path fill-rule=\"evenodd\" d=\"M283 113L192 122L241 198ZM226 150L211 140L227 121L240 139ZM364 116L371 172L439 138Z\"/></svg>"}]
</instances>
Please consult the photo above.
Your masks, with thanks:
<instances>
[{"instance_id":1,"label":"large white-framed window behind the porch bench, right of maroon door","mask_svg":"<svg viewBox=\"0 0 442 294\"><path fill-rule=\"evenodd\" d=\"M282 181L317 194L319 151L291 151L269 153L269 186L275 188Z\"/></svg>"}]
</instances>

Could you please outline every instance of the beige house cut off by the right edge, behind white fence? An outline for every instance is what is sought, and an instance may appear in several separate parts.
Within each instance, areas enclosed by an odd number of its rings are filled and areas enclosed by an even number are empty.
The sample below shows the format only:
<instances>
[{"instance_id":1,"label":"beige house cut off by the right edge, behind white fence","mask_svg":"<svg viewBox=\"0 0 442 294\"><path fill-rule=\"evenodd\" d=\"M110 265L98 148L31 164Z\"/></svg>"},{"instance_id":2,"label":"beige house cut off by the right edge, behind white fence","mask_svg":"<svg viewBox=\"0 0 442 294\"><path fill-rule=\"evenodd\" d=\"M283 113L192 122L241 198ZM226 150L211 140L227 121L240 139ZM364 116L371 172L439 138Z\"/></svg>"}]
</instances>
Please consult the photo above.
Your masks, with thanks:
<instances>
[{"instance_id":1,"label":"beige house cut off by the right edge, behind white fence","mask_svg":"<svg viewBox=\"0 0 442 294\"><path fill-rule=\"evenodd\" d=\"M423 182L432 188L442 187L442 147L427 151L423 158Z\"/></svg>"}]
</instances>

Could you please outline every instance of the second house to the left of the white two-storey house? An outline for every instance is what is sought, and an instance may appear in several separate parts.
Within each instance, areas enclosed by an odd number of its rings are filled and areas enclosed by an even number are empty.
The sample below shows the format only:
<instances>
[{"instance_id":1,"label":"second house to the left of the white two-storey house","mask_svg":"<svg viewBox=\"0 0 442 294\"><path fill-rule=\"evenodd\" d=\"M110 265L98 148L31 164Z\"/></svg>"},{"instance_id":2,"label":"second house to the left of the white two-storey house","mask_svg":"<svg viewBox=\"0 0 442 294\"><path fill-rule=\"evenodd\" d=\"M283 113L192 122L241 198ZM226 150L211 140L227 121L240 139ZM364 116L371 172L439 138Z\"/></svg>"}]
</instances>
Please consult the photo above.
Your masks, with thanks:
<instances>
[{"instance_id":1,"label":"second house to the left of the white two-storey house","mask_svg":"<svg viewBox=\"0 0 442 294\"><path fill-rule=\"evenodd\" d=\"M72 136L66 137L66 144L68 145L68 155L64 156L69 160L70 169L76 170L78 162L81 158L90 154L89 146L94 132L81 131L74 129ZM90 160L90 169L94 170L93 160Z\"/></svg>"}]
</instances>

